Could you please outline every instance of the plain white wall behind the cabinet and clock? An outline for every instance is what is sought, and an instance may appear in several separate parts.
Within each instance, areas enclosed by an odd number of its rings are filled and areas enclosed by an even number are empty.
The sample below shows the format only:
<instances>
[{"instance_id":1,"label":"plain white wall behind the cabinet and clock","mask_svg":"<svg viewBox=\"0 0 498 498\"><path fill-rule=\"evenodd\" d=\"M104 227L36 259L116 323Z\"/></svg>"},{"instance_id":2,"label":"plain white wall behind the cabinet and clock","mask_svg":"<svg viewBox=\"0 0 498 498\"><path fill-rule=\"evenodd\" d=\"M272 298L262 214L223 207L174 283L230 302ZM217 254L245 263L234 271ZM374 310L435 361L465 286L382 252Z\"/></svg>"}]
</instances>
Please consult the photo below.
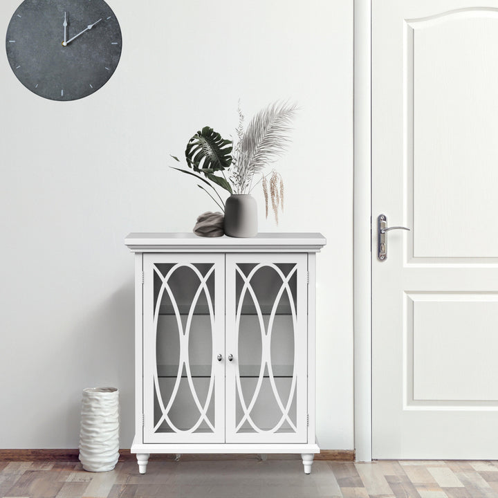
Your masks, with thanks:
<instances>
[{"instance_id":1,"label":"plain white wall behind the cabinet and clock","mask_svg":"<svg viewBox=\"0 0 498 498\"><path fill-rule=\"evenodd\" d=\"M0 3L1 33L20 0ZM123 52L89 98L50 102L0 56L0 448L77 448L84 387L121 394L133 438L128 232L187 232L216 206L174 165L205 125L234 136L277 99L301 111L277 168L286 208L261 232L322 232L317 432L353 449L352 71L349 0L109 0ZM192 181L191 181L192 180Z\"/></svg>"}]
</instances>

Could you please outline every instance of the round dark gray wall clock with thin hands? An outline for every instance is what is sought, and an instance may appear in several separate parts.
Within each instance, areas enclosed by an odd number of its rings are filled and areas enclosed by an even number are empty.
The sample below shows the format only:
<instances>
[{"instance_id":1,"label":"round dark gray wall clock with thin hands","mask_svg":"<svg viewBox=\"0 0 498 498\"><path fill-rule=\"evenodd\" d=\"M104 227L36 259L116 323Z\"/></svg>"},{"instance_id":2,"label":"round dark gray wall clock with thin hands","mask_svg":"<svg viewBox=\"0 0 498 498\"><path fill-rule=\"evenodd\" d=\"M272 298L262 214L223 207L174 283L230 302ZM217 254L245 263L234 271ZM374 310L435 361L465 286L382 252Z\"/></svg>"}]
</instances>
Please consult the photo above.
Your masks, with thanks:
<instances>
[{"instance_id":1,"label":"round dark gray wall clock with thin hands","mask_svg":"<svg viewBox=\"0 0 498 498\"><path fill-rule=\"evenodd\" d=\"M17 79L50 100L77 100L102 88L121 47L118 19L104 0L24 0L6 37Z\"/></svg>"}]
</instances>

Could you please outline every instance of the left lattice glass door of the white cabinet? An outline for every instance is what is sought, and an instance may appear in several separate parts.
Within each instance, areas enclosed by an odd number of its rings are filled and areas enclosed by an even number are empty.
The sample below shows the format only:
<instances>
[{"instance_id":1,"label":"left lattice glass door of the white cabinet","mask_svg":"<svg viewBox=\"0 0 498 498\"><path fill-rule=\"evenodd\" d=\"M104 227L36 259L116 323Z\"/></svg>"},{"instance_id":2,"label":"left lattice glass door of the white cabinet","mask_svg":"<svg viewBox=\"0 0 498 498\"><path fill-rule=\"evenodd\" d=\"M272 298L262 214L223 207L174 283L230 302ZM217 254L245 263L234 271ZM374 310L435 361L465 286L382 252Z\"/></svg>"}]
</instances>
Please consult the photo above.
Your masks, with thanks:
<instances>
[{"instance_id":1,"label":"left lattice glass door of the white cabinet","mask_svg":"<svg viewBox=\"0 0 498 498\"><path fill-rule=\"evenodd\" d=\"M223 443L224 256L144 256L144 442Z\"/></svg>"}]
</instances>

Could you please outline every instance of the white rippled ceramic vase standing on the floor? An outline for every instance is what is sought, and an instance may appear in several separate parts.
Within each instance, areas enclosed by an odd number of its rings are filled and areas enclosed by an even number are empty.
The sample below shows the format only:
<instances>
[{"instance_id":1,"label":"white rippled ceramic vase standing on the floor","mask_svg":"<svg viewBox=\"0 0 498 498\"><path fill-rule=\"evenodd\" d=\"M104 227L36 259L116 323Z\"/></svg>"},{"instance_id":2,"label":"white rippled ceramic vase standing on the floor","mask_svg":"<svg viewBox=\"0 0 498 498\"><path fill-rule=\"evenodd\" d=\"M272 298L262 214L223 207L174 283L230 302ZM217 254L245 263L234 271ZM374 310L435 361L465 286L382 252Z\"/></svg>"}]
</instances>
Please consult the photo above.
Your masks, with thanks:
<instances>
[{"instance_id":1,"label":"white rippled ceramic vase standing on the floor","mask_svg":"<svg viewBox=\"0 0 498 498\"><path fill-rule=\"evenodd\" d=\"M116 387L83 389L80 461L84 470L113 470L119 458L119 391Z\"/></svg>"}]
</instances>

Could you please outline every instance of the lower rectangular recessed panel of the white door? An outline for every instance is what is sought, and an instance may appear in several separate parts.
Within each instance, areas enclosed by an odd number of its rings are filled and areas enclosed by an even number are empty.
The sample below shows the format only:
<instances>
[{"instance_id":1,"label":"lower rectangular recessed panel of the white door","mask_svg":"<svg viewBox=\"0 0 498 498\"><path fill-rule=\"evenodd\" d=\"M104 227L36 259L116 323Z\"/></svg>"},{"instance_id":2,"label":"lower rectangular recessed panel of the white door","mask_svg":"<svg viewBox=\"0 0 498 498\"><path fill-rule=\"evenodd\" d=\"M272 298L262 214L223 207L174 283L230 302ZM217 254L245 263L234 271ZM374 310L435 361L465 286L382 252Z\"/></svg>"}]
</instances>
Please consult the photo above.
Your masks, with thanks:
<instances>
[{"instance_id":1,"label":"lower rectangular recessed panel of the white door","mask_svg":"<svg viewBox=\"0 0 498 498\"><path fill-rule=\"evenodd\" d=\"M498 340L493 336L496 344L490 344L486 329L490 316L498 321L498 293L405 292L404 314L403 409L497 410L498 387L487 380L498 376L489 369L497 368ZM461 349L470 328L472 344Z\"/></svg>"}]
</instances>

